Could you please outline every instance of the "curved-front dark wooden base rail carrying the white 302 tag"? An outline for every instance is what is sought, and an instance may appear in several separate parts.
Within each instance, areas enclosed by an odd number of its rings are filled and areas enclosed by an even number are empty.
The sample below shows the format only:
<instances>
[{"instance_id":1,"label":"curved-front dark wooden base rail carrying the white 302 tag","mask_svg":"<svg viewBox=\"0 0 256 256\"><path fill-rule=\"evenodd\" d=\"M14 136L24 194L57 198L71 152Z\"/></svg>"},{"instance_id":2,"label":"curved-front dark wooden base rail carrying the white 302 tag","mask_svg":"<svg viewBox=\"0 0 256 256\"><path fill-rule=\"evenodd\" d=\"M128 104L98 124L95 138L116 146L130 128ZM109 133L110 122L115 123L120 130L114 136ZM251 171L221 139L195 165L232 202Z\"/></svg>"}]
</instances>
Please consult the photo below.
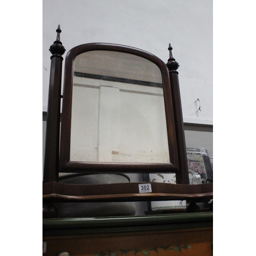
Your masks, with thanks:
<instances>
[{"instance_id":1,"label":"curved-front dark wooden base rail carrying the white 302 tag","mask_svg":"<svg viewBox=\"0 0 256 256\"><path fill-rule=\"evenodd\" d=\"M140 184L150 184L151 193L140 193ZM213 199L213 183L164 184L130 182L97 185L74 185L48 182L42 186L43 203L52 202L132 202L186 200L208 202Z\"/></svg>"}]
</instances>

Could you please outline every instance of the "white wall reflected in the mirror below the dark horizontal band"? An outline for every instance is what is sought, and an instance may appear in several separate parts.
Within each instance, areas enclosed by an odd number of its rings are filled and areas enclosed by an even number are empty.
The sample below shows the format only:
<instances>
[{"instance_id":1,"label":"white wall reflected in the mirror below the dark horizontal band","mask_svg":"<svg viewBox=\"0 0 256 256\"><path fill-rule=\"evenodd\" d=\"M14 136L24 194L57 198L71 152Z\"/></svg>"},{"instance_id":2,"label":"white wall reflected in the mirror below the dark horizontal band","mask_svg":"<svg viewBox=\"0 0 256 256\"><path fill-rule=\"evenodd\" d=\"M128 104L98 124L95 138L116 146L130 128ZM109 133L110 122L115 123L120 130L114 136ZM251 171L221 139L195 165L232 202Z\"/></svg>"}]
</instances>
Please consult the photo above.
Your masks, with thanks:
<instances>
[{"instance_id":1,"label":"white wall reflected in the mirror below the dark horizontal band","mask_svg":"<svg viewBox=\"0 0 256 256\"><path fill-rule=\"evenodd\" d=\"M162 88L81 77L74 82L71 161L169 162Z\"/></svg>"}]
</instances>

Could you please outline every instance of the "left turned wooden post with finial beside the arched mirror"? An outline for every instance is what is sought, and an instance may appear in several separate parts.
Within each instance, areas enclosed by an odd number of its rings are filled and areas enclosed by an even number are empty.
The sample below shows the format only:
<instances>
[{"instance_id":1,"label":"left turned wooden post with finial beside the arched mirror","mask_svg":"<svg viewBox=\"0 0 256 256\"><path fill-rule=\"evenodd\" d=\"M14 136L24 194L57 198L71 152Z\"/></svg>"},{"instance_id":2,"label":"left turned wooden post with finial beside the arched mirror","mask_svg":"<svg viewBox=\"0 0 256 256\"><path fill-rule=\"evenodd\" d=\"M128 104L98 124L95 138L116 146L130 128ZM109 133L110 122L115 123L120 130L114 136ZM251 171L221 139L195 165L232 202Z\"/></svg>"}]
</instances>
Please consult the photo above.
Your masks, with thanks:
<instances>
[{"instance_id":1,"label":"left turned wooden post with finial beside the arched mirror","mask_svg":"<svg viewBox=\"0 0 256 256\"><path fill-rule=\"evenodd\" d=\"M58 181L59 170L60 98L63 61L61 55L65 53L66 49L59 39L61 32L59 25L56 32L56 41L49 49L52 56L47 110L44 183Z\"/></svg>"}]
</instances>

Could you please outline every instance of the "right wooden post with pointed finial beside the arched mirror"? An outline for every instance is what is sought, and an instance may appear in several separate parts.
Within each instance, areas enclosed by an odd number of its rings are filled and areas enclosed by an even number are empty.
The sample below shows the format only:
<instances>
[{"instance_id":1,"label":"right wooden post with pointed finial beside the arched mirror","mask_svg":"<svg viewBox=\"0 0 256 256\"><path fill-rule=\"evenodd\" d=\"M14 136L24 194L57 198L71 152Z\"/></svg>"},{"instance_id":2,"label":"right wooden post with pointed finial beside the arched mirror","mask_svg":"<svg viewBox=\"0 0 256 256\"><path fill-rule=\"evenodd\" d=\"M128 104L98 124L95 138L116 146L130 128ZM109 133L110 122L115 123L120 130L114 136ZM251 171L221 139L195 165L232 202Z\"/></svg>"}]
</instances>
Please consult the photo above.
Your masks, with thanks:
<instances>
[{"instance_id":1,"label":"right wooden post with pointed finial beside the arched mirror","mask_svg":"<svg viewBox=\"0 0 256 256\"><path fill-rule=\"evenodd\" d=\"M174 109L174 119L175 119L175 130L176 130L176 140L177 140L177 150L178 150L178 161L179 161L179 172L176 174L177 184L189 184L188 169L187 169L187 154L186 154L186 143L184 134L184 124L182 116L182 106L180 98L180 87L177 69L179 64L175 61L172 54L172 46L168 47L169 59L166 66L169 70L170 86L172 90L173 97L173 109Z\"/></svg>"}]
</instances>

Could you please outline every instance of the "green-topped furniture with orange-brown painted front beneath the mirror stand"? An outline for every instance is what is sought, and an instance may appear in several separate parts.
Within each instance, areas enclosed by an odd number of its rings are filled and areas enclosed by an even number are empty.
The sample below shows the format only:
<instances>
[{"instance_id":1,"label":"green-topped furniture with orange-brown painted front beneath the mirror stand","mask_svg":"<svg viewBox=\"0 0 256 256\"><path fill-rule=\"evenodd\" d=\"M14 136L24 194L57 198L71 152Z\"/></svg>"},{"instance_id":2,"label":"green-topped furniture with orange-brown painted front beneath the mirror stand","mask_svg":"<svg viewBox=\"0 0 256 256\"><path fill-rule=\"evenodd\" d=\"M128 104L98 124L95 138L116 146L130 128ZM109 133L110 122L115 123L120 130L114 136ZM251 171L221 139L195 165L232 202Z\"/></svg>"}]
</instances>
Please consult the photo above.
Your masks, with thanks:
<instances>
[{"instance_id":1,"label":"green-topped furniture with orange-brown painted front beneath the mirror stand","mask_svg":"<svg viewBox=\"0 0 256 256\"><path fill-rule=\"evenodd\" d=\"M212 212L44 219L45 256L213 255Z\"/></svg>"}]
</instances>

